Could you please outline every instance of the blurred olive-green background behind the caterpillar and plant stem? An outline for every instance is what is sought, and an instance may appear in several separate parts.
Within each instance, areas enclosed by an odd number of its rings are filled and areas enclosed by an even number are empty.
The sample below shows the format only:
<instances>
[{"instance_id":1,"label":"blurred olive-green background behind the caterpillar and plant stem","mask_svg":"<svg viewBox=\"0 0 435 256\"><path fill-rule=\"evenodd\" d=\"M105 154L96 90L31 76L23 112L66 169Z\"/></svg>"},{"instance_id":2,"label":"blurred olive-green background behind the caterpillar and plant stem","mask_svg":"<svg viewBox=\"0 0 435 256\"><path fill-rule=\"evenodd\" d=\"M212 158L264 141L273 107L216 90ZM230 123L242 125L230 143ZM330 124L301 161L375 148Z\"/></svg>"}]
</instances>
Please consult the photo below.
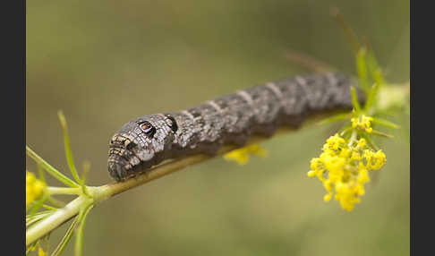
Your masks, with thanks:
<instances>
[{"instance_id":1,"label":"blurred olive-green background behind the caterpillar and plant stem","mask_svg":"<svg viewBox=\"0 0 435 256\"><path fill-rule=\"evenodd\" d=\"M288 50L354 73L331 6L368 38L388 81L409 79L409 1L28 1L27 143L67 173L63 109L76 164L90 160L89 184L101 185L109 138L134 117L309 72ZM306 176L330 132L311 126L263 143L269 158L215 158L105 201L87 220L84 254L408 255L404 132L383 143L388 163L352 213L324 203Z\"/></svg>"}]
</instances>

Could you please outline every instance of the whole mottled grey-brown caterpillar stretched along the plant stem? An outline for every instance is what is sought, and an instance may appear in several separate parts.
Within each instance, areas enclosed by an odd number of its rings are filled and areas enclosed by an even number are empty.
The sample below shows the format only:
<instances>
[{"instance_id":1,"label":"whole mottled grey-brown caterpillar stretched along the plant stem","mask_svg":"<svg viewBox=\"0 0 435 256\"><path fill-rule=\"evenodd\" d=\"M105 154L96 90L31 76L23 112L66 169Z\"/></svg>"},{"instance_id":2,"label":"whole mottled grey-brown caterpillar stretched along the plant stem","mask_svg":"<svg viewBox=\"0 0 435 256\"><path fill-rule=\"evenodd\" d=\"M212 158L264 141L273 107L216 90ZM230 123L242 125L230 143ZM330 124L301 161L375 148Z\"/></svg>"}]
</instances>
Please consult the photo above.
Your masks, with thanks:
<instances>
[{"instance_id":1,"label":"whole mottled grey-brown caterpillar stretched along the plant stem","mask_svg":"<svg viewBox=\"0 0 435 256\"><path fill-rule=\"evenodd\" d=\"M253 133L270 136L281 125L297 128L309 115L350 109L351 85L342 73L296 76L180 112L141 116L110 141L109 174L121 181L166 159L213 154L224 144L242 147Z\"/></svg>"}]
</instances>

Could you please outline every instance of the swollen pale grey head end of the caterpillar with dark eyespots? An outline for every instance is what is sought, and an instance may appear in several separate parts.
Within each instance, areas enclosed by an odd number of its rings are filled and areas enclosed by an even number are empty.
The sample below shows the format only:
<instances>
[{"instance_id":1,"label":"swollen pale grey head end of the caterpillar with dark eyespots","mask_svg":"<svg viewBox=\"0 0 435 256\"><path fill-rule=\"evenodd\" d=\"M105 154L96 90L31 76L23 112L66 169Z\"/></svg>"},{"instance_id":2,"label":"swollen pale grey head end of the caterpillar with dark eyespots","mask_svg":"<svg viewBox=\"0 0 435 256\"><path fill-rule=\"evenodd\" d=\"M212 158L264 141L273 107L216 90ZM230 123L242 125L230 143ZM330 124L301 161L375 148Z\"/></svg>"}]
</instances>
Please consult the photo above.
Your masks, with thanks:
<instances>
[{"instance_id":1,"label":"swollen pale grey head end of the caterpillar with dark eyespots","mask_svg":"<svg viewBox=\"0 0 435 256\"><path fill-rule=\"evenodd\" d=\"M172 115L146 115L124 124L109 142L109 174L121 181L157 165L177 129Z\"/></svg>"}]
</instances>

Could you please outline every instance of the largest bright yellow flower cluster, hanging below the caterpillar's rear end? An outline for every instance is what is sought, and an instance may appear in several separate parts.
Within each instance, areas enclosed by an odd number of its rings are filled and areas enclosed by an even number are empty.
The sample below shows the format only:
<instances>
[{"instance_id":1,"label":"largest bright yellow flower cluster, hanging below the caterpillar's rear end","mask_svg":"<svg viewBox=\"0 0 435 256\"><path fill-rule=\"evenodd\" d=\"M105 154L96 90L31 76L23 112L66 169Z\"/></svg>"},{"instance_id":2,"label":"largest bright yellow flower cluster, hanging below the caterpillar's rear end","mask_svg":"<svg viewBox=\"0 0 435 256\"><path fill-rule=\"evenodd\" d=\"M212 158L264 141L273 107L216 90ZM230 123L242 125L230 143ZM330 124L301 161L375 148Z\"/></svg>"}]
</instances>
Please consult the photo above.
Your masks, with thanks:
<instances>
[{"instance_id":1,"label":"largest bright yellow flower cluster, hanging below the caterpillar's rear end","mask_svg":"<svg viewBox=\"0 0 435 256\"><path fill-rule=\"evenodd\" d=\"M328 138L319 158L311 159L309 177L317 176L327 190L324 201L335 200L343 209L351 211L361 201L364 183L370 181L369 171L378 170L385 164L382 150L374 152L364 139L346 141L338 134Z\"/></svg>"}]
</instances>

